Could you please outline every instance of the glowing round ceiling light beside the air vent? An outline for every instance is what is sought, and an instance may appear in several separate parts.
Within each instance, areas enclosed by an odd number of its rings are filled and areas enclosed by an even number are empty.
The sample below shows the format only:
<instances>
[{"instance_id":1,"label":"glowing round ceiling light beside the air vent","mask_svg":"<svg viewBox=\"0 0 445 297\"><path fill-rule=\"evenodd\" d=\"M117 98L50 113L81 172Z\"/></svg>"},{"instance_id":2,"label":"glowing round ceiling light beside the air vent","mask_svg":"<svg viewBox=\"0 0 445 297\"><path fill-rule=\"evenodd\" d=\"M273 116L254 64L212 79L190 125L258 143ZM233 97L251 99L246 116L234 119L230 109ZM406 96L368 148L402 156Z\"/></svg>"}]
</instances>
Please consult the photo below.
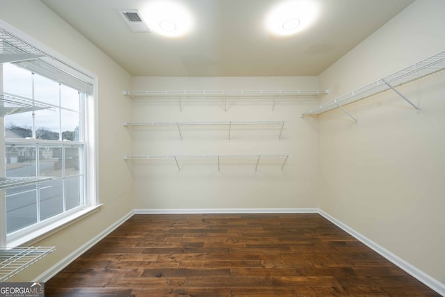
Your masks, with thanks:
<instances>
[{"instance_id":1,"label":"glowing round ceiling light beside the air vent","mask_svg":"<svg viewBox=\"0 0 445 297\"><path fill-rule=\"evenodd\" d=\"M190 13L183 6L170 1L152 2L140 13L152 31L176 38L185 35L192 27Z\"/></svg>"}]
</instances>

